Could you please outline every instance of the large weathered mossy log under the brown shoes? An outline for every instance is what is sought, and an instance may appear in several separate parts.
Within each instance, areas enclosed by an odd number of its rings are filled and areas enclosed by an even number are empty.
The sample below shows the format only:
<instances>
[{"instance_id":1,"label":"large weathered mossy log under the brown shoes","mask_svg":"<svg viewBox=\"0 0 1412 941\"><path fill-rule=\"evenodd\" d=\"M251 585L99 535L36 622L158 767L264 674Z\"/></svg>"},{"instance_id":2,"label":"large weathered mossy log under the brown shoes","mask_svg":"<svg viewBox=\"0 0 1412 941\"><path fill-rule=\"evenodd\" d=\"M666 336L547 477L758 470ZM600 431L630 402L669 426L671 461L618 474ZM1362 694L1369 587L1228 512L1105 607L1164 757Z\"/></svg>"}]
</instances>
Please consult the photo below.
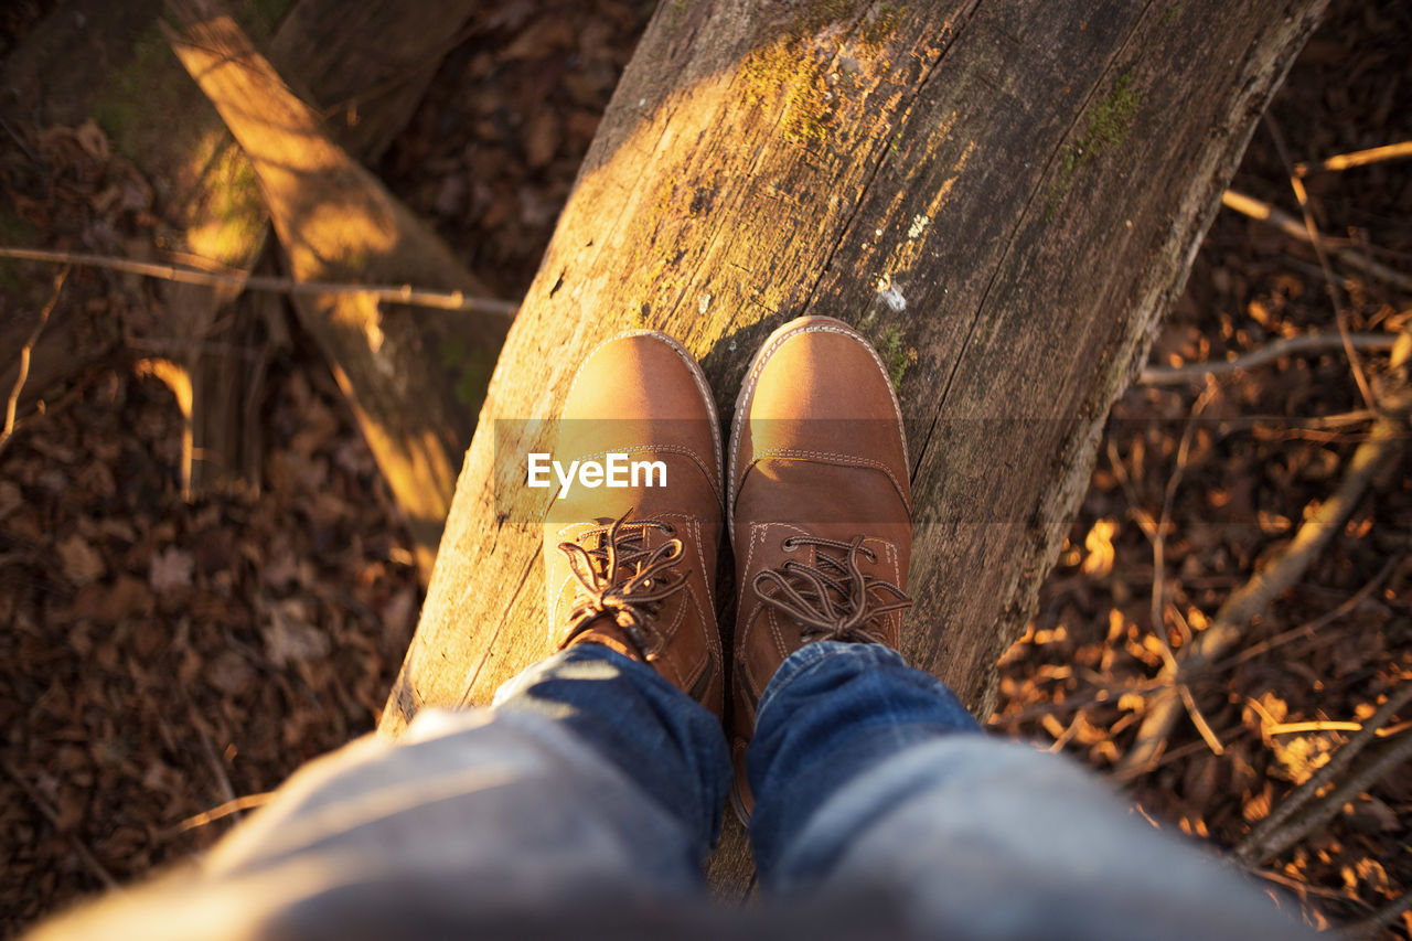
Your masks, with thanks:
<instances>
[{"instance_id":1,"label":"large weathered mossy log under the brown shoes","mask_svg":"<svg viewBox=\"0 0 1412 941\"><path fill-rule=\"evenodd\" d=\"M381 730L548 653L521 483L551 431L496 420L552 418L587 350L635 326L681 338L729 417L755 345L802 314L891 363L916 502L904 651L990 715L1108 408L1322 7L664 3L496 369Z\"/></svg>"}]
</instances>

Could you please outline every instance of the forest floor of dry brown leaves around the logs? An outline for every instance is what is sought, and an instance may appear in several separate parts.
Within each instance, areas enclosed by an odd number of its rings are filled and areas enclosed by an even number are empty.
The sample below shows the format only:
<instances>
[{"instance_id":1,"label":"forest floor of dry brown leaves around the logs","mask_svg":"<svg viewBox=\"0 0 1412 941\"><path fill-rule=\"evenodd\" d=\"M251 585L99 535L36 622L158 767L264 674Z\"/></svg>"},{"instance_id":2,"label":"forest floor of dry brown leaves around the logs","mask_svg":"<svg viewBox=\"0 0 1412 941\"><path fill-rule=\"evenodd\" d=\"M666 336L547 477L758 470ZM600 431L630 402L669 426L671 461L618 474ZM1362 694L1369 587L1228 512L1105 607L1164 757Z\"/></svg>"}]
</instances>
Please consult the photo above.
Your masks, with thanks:
<instances>
[{"instance_id":1,"label":"forest floor of dry brown leaves around the logs","mask_svg":"<svg viewBox=\"0 0 1412 941\"><path fill-rule=\"evenodd\" d=\"M0 55L47 6L0 17ZM501 297L528 287L651 6L491 0L377 168ZM1337 0L1233 188L1298 215L1272 127L1295 161L1412 138L1409 47L1412 8ZM37 162L25 172L45 181L49 202L28 206L41 243L64 226L140 227L141 201L123 194L141 182L100 134L6 131L28 141ZM24 198L0 182L11 202ZM1412 162L1306 184L1323 233L1412 271ZM1336 270L1351 331L1412 329L1405 281ZM34 277L52 290L52 274ZM88 270L59 288L124 315L147 290ZM257 493L182 500L181 414L140 352L56 390L0 451L4 935L209 846L239 814L205 811L274 788L377 721L421 588L329 369L291 329L267 379ZM1223 211L1152 363L1226 360L1334 329L1312 249ZM1365 357L1371 373L1385 362ZM1370 425L1341 352L1130 390L1039 613L1003 660L991 728L1111 771L1166 650L1180 654L1330 497ZM1238 651L1189 680L1209 733L1183 715L1155 767L1123 781L1154 825L1236 846L1412 684L1408 468L1406 452L1381 468ZM1336 783L1408 736L1406 719L1402 708ZM1385 911L1377 937L1412 937L1412 916L1389 907L1412 889L1408 770L1339 801L1255 870L1315 924Z\"/></svg>"}]
</instances>

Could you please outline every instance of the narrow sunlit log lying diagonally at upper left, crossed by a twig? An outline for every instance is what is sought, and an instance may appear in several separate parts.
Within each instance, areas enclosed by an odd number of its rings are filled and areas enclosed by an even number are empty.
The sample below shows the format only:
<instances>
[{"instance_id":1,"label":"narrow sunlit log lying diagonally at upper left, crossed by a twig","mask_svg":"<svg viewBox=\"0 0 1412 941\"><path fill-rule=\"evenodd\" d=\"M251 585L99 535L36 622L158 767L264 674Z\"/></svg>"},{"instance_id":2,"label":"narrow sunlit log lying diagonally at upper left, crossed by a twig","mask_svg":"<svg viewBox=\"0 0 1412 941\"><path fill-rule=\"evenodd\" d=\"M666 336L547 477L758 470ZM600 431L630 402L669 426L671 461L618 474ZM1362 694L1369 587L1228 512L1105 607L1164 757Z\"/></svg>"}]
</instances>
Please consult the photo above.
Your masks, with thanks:
<instances>
[{"instance_id":1,"label":"narrow sunlit log lying diagonally at upper left, crossed by a twig","mask_svg":"<svg viewBox=\"0 0 1412 941\"><path fill-rule=\"evenodd\" d=\"M213 0L168 0L184 34L172 49L234 134L260 181L289 268L299 281L407 283L480 291L446 244L330 140L323 122L281 81ZM431 568L446 519L456 461L479 401L446 376L442 353L456 336L470 350L498 350L508 318L465 315L453 324L369 295L295 295ZM489 376L487 376L489 379Z\"/></svg>"}]
</instances>

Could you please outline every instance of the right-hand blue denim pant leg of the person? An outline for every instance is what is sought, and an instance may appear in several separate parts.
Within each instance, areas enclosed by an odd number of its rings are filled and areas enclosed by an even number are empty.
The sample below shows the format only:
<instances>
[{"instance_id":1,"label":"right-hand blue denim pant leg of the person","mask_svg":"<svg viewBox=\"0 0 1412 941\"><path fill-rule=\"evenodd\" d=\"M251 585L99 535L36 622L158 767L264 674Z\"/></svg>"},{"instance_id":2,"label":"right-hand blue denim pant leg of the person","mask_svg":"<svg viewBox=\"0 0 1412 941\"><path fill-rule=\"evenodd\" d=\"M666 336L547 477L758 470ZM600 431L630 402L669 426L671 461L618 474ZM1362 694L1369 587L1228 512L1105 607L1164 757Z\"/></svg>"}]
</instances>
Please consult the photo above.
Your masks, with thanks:
<instances>
[{"instance_id":1,"label":"right-hand blue denim pant leg of the person","mask_svg":"<svg viewBox=\"0 0 1412 941\"><path fill-rule=\"evenodd\" d=\"M839 702L810 702L825 692ZM959 708L881 647L792 654L747 756L762 883L791 897L880 886L919 937L1310 937L1075 762L959 735L977 729Z\"/></svg>"}]
</instances>

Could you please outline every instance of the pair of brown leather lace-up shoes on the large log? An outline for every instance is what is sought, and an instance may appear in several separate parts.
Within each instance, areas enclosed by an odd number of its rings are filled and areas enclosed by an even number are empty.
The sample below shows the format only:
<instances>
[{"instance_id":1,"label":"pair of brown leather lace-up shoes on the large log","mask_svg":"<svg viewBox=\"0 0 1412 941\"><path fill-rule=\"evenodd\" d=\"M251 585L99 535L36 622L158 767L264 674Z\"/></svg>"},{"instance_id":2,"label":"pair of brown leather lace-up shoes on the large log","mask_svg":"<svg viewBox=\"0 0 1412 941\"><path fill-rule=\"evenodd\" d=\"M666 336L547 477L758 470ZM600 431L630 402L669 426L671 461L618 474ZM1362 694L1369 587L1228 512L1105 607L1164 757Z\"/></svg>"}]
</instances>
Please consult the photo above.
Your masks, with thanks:
<instances>
[{"instance_id":1,"label":"pair of brown leather lace-up shoes on the large log","mask_svg":"<svg viewBox=\"0 0 1412 941\"><path fill-rule=\"evenodd\" d=\"M606 644L719 716L714 574L729 521L733 797L744 818L755 704L781 661L815 640L898 646L911 487L887 369L830 318L770 335L736 401L729 449L727 476L710 389L681 343L640 331L599 346L563 406L545 592L556 649Z\"/></svg>"}]
</instances>

